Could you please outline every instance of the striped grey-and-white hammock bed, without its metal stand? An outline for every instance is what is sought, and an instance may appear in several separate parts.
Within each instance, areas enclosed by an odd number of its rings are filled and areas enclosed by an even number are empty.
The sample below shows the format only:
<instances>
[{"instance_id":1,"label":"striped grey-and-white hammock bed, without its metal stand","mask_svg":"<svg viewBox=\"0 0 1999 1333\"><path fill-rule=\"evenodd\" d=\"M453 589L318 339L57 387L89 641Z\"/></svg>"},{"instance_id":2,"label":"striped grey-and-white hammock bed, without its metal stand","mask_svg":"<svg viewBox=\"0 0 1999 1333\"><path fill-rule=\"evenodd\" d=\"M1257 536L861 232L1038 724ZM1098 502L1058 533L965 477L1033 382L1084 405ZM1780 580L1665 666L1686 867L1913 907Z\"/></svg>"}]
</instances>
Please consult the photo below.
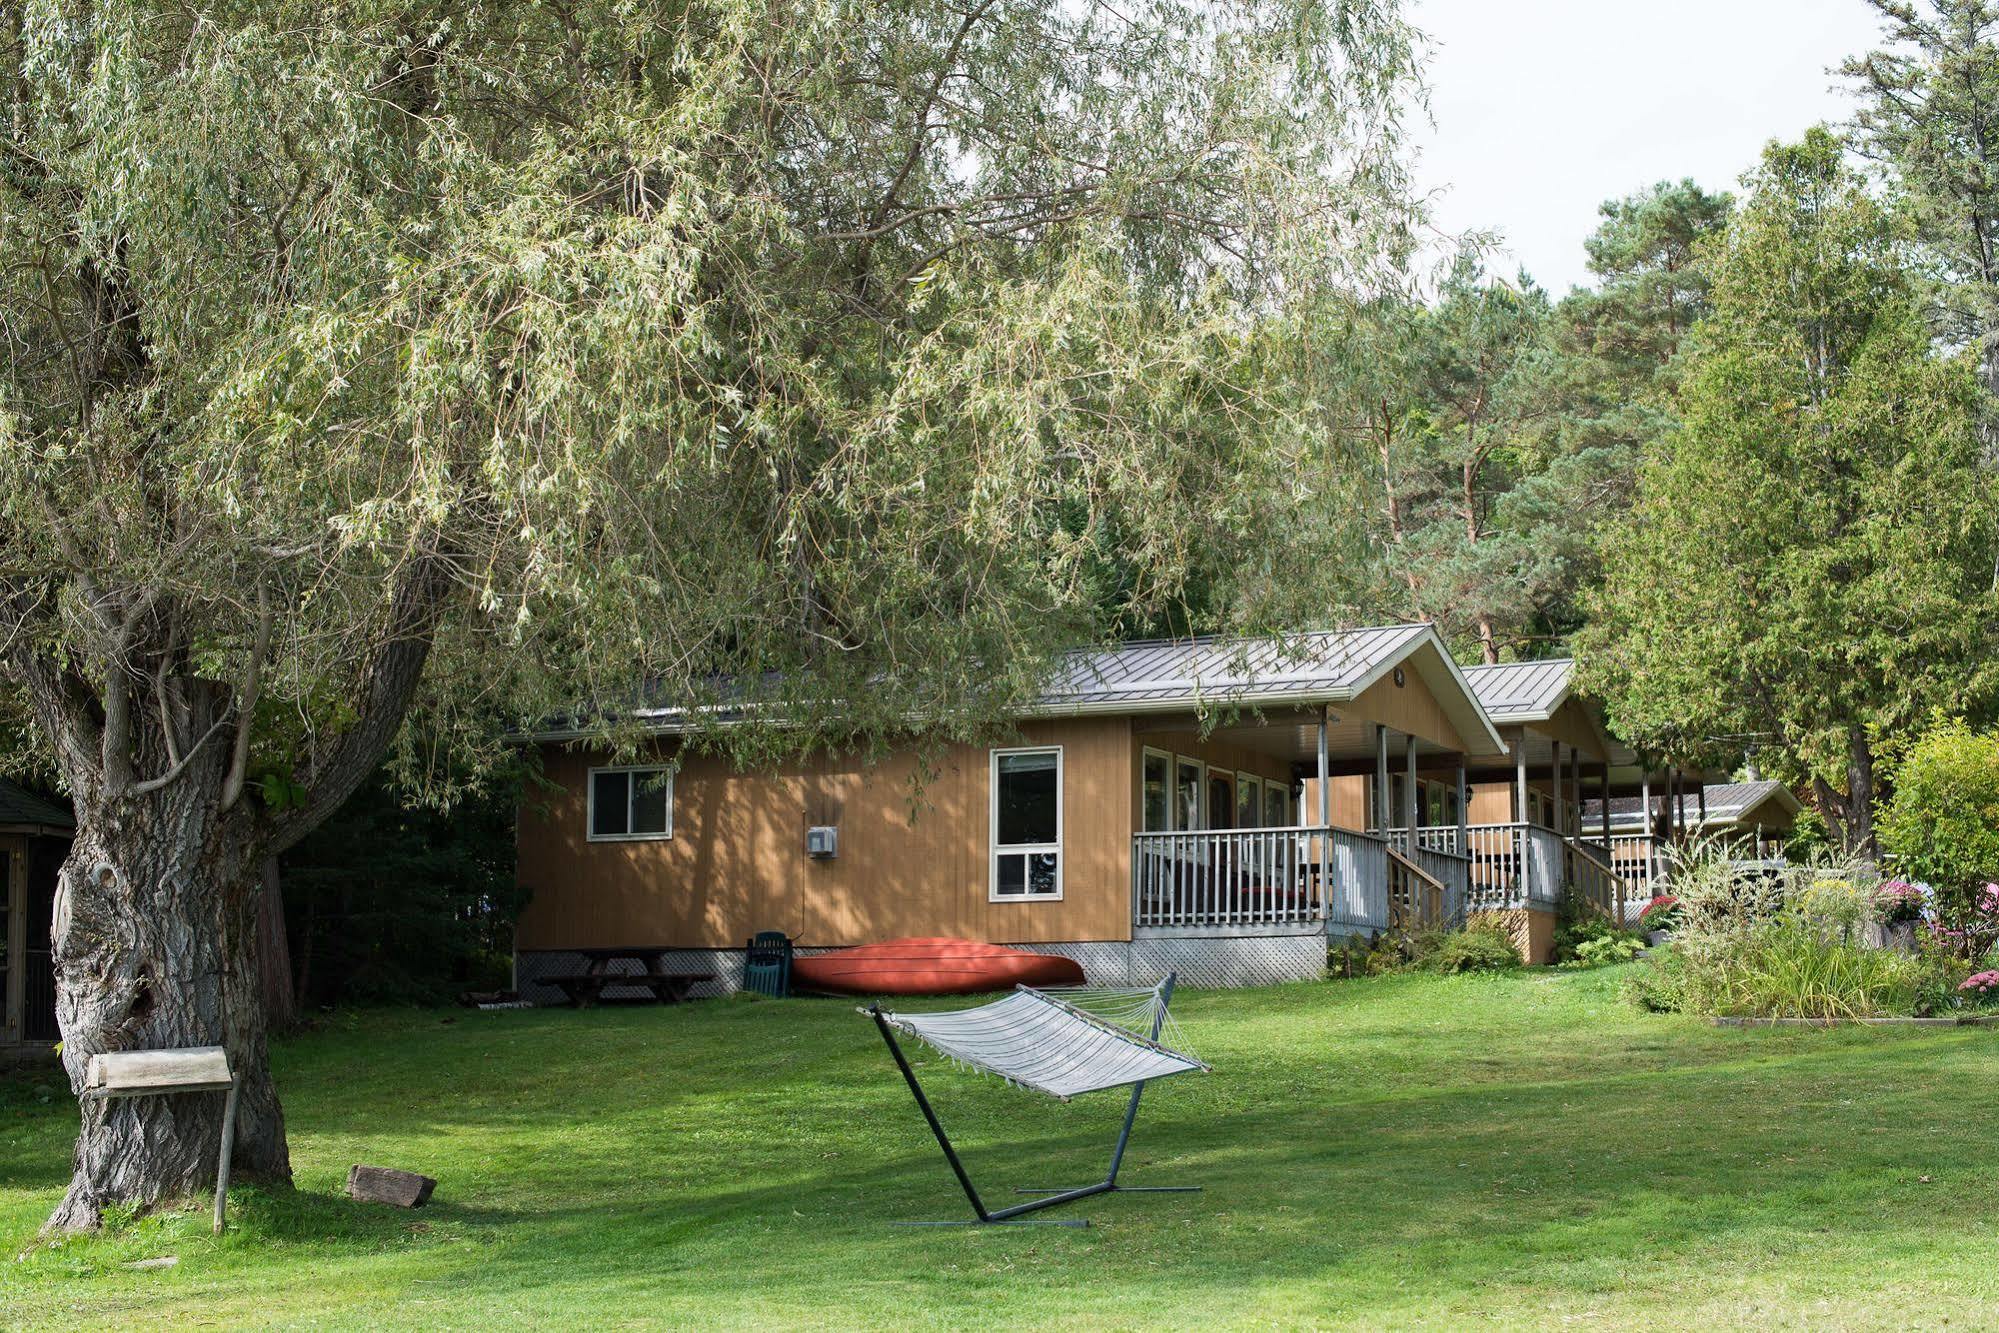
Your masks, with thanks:
<instances>
[{"instance_id":1,"label":"striped grey-and-white hammock bed, without its metal stand","mask_svg":"<svg viewBox=\"0 0 1999 1333\"><path fill-rule=\"evenodd\" d=\"M1161 1019L1171 1023L1157 989L1065 993L1083 1003L1103 1003L1115 1017L1089 1013L1079 1003L1021 985L1011 995L978 1009L952 1013L884 1009L882 1021L964 1065L1061 1101L1105 1087L1207 1069L1193 1055L1163 1047L1135 1031L1137 1023L1117 1021L1139 1019L1145 1027Z\"/></svg>"}]
</instances>

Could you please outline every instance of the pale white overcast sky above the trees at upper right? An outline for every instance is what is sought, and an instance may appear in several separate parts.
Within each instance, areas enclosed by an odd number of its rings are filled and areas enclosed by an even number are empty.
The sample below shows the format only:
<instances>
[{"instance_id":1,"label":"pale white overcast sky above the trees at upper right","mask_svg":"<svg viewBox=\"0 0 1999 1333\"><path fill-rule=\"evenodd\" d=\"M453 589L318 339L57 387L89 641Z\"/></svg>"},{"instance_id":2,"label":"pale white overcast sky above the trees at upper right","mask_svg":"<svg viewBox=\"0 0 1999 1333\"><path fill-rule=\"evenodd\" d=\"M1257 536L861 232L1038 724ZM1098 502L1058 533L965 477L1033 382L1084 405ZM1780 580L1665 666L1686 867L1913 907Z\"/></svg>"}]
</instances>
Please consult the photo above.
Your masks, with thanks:
<instances>
[{"instance_id":1,"label":"pale white overcast sky above the trees at upper right","mask_svg":"<svg viewBox=\"0 0 1999 1333\"><path fill-rule=\"evenodd\" d=\"M1733 190L1773 136L1845 120L1827 68L1877 44L1861 0L1415 0L1435 40L1419 176L1447 232L1503 234L1555 292L1597 204L1691 176Z\"/></svg>"}]
</instances>

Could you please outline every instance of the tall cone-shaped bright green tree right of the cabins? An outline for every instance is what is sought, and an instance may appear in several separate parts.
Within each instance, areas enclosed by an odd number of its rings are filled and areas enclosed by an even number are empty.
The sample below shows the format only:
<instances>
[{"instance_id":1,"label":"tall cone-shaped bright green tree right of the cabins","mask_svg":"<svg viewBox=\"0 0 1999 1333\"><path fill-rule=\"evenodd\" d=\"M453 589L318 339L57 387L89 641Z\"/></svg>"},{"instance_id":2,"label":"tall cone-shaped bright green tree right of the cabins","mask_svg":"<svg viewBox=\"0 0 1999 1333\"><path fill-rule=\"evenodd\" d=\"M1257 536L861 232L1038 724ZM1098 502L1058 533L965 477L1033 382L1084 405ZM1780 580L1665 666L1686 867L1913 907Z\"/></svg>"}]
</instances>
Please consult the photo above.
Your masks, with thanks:
<instances>
[{"instance_id":1,"label":"tall cone-shaped bright green tree right of the cabins","mask_svg":"<svg viewBox=\"0 0 1999 1333\"><path fill-rule=\"evenodd\" d=\"M1861 845L1877 737L1995 685L1979 386L1933 350L1897 230L1829 134L1773 144L1749 184L1703 248L1683 424L1603 538L1583 677L1653 753L1777 737L1779 775L1845 801Z\"/></svg>"}]
</instances>

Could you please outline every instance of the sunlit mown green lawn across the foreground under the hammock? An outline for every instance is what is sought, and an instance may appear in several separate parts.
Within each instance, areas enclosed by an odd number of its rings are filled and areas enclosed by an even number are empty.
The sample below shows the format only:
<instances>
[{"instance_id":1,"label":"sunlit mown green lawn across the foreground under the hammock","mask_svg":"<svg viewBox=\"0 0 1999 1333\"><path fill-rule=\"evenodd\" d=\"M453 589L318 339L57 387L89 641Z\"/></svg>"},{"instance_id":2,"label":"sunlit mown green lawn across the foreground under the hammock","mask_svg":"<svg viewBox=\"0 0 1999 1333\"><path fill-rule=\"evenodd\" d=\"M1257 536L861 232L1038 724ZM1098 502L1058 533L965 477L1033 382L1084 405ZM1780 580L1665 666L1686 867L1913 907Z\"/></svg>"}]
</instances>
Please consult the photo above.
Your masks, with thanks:
<instances>
[{"instance_id":1,"label":"sunlit mown green lawn across the foreground under the hammock","mask_svg":"<svg viewBox=\"0 0 1999 1333\"><path fill-rule=\"evenodd\" d=\"M74 1109L0 1083L4 1325L1907 1327L1999 1309L1999 1033L1713 1029L1623 969L1183 993L1087 1231L956 1195L836 1001L340 1015L276 1051L298 1189L34 1241ZM1115 1095L920 1071L974 1177L1083 1181ZM46 1101L44 1101L46 1097ZM420 1213L354 1161L440 1179ZM22 1255L14 1259L14 1255ZM176 1255L178 1265L130 1269Z\"/></svg>"}]
</instances>

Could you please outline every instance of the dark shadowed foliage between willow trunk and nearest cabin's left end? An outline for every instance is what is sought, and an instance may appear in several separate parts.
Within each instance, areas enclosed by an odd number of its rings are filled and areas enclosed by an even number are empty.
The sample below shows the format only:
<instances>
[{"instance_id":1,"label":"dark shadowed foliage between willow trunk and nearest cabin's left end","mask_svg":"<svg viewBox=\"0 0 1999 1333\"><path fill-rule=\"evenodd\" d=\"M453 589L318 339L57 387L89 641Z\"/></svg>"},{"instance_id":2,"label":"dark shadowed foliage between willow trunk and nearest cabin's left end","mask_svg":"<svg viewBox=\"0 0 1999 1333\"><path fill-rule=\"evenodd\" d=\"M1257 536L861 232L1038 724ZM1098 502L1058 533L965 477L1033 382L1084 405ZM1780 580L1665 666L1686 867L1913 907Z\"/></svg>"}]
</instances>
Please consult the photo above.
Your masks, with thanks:
<instances>
[{"instance_id":1,"label":"dark shadowed foliage between willow trunk and nearest cabin's left end","mask_svg":"<svg viewBox=\"0 0 1999 1333\"><path fill-rule=\"evenodd\" d=\"M508 985L514 917L512 783L450 811L364 785L286 853L280 883L300 1007L450 1003Z\"/></svg>"}]
</instances>

